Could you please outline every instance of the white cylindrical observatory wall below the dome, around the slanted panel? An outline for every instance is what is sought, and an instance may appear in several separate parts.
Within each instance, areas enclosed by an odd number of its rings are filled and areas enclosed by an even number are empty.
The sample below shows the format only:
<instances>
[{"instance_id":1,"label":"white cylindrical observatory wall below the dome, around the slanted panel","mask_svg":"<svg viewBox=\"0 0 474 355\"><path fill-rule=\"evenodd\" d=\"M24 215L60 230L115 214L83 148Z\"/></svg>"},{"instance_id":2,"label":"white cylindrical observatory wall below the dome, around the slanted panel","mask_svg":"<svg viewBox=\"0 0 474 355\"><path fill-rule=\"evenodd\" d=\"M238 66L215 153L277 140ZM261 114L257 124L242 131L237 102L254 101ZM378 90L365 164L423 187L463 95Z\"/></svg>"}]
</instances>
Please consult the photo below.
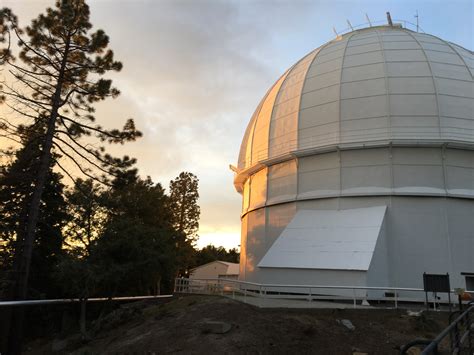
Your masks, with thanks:
<instances>
[{"instance_id":1,"label":"white cylindrical observatory wall below the dome, around the slanted panel","mask_svg":"<svg viewBox=\"0 0 474 355\"><path fill-rule=\"evenodd\" d=\"M381 205L388 207L384 233L377 244L373 268L367 278L357 276L357 282L421 287L423 272L449 272L453 287L464 287L460 272L474 270L474 200L470 195L474 151L441 147L354 149L301 157L270 166L268 171L267 191L272 198L266 207L251 209L243 217L242 280L326 280L329 276L321 270L306 270L299 276L294 270L272 271L256 265L296 210ZM276 187L278 179L287 180L285 188ZM295 195L289 192L296 189L297 201L293 202ZM453 198L451 193L455 193Z\"/></svg>"}]
</instances>

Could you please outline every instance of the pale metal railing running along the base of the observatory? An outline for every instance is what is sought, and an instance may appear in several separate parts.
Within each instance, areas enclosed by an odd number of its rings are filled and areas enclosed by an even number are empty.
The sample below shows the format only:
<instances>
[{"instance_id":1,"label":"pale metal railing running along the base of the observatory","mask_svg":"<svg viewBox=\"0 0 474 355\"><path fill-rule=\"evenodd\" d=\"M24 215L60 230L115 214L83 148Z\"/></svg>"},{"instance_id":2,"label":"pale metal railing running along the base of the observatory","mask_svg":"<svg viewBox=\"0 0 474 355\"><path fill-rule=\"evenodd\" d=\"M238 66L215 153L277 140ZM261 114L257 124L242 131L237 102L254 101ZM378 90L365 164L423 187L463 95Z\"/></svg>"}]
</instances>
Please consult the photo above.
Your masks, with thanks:
<instances>
[{"instance_id":1,"label":"pale metal railing running along the base of the observatory","mask_svg":"<svg viewBox=\"0 0 474 355\"><path fill-rule=\"evenodd\" d=\"M269 305L274 299L350 302L354 308L357 308L358 305L367 305L368 300L393 303L393 308L398 308L400 302L423 302L426 304L425 291L422 288L403 287L282 285L222 278L177 278L174 291L176 293L217 294L253 303L260 307ZM434 308L436 308L436 304L447 303L445 300L437 299L432 302Z\"/></svg>"}]
</instances>

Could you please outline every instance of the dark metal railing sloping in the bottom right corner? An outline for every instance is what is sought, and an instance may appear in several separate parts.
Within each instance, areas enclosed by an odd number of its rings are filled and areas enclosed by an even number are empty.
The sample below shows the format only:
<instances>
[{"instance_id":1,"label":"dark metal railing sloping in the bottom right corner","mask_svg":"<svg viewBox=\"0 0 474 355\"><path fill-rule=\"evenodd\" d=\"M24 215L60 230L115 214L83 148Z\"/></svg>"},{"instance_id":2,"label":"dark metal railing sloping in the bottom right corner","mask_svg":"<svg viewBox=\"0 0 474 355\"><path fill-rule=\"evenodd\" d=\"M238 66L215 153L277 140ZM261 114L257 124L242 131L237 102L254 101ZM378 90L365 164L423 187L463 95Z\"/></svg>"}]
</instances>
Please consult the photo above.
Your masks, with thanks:
<instances>
[{"instance_id":1,"label":"dark metal railing sloping in the bottom right corner","mask_svg":"<svg viewBox=\"0 0 474 355\"><path fill-rule=\"evenodd\" d=\"M461 313L450 325L444 329L435 339L414 340L400 349L401 354L407 354L413 347L425 346L422 355L440 354L440 344L449 337L451 354L474 354L474 302L469 303L469 308L464 312L453 312L453 315Z\"/></svg>"}]
</instances>

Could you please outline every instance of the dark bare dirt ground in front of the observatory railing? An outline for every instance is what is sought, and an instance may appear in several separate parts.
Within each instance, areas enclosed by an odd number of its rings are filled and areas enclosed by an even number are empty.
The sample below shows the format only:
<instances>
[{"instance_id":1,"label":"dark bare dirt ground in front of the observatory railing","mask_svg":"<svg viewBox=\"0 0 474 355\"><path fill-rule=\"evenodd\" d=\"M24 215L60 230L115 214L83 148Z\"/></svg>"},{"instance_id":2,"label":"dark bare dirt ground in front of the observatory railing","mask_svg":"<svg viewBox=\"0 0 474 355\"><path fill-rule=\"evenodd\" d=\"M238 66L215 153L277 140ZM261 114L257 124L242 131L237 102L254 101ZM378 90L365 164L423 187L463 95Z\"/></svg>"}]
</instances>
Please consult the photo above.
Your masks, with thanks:
<instances>
[{"instance_id":1,"label":"dark bare dirt ground in front of the observatory railing","mask_svg":"<svg viewBox=\"0 0 474 355\"><path fill-rule=\"evenodd\" d=\"M348 319L349 330L338 320ZM231 325L225 334L208 321ZM260 309L217 296L177 297L169 303L123 305L79 335L36 340L27 354L398 354L415 338L432 339L448 322L445 312L408 316L385 309Z\"/></svg>"}]
</instances>

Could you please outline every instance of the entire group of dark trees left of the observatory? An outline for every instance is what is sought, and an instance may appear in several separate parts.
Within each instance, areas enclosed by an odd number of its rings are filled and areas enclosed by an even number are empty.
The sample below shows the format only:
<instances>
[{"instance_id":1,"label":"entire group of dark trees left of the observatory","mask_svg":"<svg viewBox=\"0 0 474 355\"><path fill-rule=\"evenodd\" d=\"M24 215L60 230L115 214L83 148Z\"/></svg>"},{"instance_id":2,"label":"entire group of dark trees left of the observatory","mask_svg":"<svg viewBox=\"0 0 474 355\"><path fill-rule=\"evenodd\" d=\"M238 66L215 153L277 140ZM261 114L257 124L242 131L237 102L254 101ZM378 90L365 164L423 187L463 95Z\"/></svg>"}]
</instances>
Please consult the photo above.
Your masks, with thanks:
<instances>
[{"instance_id":1,"label":"entire group of dark trees left of the observatory","mask_svg":"<svg viewBox=\"0 0 474 355\"><path fill-rule=\"evenodd\" d=\"M94 104L120 71L84 0L58 0L27 27L0 8L0 297L170 291L196 263L198 179L170 192L110 144L141 136L96 123ZM24 307L0 314L0 352L19 353Z\"/></svg>"}]
</instances>

